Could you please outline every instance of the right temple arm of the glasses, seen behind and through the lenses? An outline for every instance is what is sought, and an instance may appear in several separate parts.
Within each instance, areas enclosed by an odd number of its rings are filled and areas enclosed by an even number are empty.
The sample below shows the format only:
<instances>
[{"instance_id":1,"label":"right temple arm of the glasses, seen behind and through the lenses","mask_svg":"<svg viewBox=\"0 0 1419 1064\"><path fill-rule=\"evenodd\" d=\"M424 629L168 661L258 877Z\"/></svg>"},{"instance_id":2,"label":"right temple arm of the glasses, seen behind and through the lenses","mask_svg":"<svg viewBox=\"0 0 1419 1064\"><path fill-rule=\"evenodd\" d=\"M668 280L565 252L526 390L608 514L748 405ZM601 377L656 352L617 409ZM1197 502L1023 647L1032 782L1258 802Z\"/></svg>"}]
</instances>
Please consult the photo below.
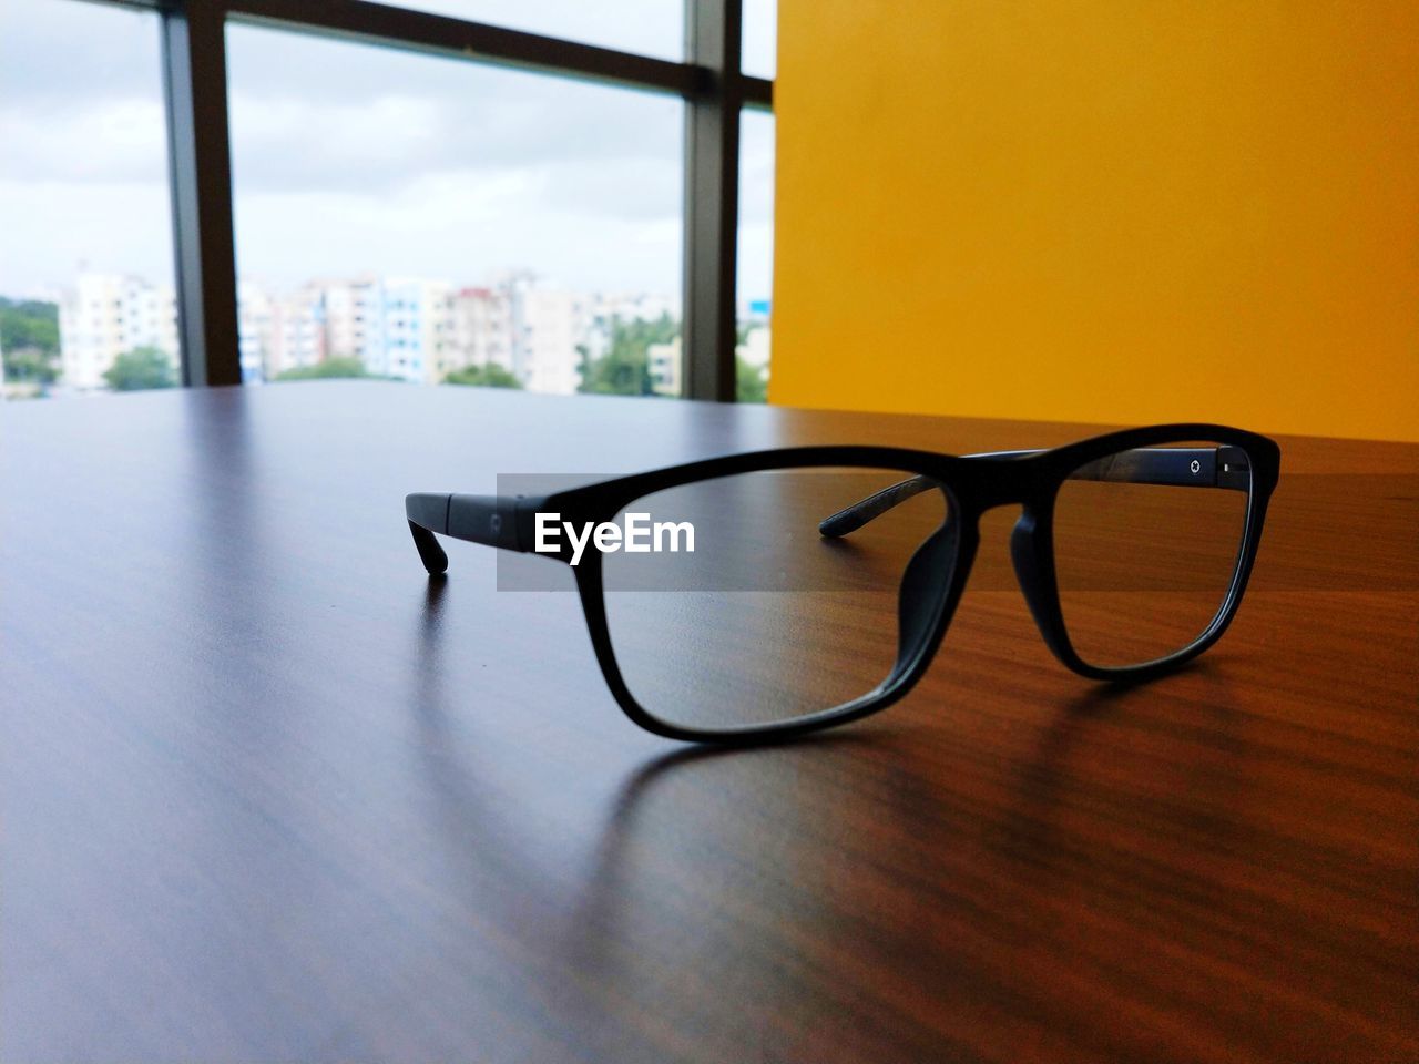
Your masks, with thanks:
<instances>
[{"instance_id":1,"label":"right temple arm of the glasses, seen behind and through the lenses","mask_svg":"<svg viewBox=\"0 0 1419 1064\"><path fill-rule=\"evenodd\" d=\"M1032 454L1040 454L1040 451L989 451L965 457L1000 461L1025 458ZM1081 465L1069 478L1073 481L1233 488L1239 491L1246 491L1250 485L1246 451L1240 447L1137 447ZM911 477L823 518L817 531L829 539L846 536L873 518L881 516L888 509L935 487L937 482L929 477Z\"/></svg>"}]
</instances>

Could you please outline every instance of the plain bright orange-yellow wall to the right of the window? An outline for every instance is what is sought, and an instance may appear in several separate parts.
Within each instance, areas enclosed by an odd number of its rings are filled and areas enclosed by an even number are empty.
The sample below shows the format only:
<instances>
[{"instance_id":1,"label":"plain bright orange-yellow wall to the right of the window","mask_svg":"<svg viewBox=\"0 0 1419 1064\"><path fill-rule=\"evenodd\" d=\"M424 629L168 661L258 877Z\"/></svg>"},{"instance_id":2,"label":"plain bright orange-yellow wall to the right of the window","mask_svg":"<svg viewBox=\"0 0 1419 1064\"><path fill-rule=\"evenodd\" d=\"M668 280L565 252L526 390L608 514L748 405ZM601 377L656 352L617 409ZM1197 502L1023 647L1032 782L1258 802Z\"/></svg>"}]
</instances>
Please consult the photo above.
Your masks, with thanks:
<instances>
[{"instance_id":1,"label":"plain bright orange-yellow wall to the right of the window","mask_svg":"<svg viewBox=\"0 0 1419 1064\"><path fill-rule=\"evenodd\" d=\"M1419 440L1419 3L779 20L773 401Z\"/></svg>"}]
</instances>

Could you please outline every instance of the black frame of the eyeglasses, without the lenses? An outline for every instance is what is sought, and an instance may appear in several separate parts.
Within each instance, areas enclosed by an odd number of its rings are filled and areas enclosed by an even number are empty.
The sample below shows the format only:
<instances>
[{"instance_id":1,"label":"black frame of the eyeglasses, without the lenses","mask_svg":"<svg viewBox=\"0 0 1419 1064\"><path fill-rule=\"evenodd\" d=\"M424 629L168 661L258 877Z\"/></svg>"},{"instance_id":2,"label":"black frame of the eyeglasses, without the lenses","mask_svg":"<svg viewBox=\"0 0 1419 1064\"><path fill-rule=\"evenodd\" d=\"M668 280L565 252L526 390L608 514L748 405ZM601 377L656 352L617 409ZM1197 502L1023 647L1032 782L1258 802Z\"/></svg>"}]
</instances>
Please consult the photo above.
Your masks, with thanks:
<instances>
[{"instance_id":1,"label":"black frame of the eyeglasses, without the lenses","mask_svg":"<svg viewBox=\"0 0 1419 1064\"><path fill-rule=\"evenodd\" d=\"M1122 451L1206 440L1240 448L1247 458L1250 491L1246 523L1232 582L1210 624L1188 645L1137 665L1104 667L1086 663L1074 650L1064 624L1054 567L1054 502L1060 487L1081 467ZM925 477L946 497L946 516L914 553L900 586L900 645L888 677L873 691L841 705L786 721L701 729L664 721L640 705L630 692L606 620L602 553L587 545L573 567L586 614L592 647L606 684L624 714L641 728L670 739L705 743L755 743L790 738L861 719L902 698L925 674L945 637L971 576L981 542L981 516L995 506L1020 505L1010 533L1010 559L1020 590L1046 645L1071 671L1090 680L1139 682L1168 672L1216 643L1236 616L1261 542L1266 511L1280 477L1280 447L1270 438L1216 424L1164 424L1128 428L1043 451L1010 451L983 455L949 455L900 447L819 445L732 454L722 458L673 465L617 477L542 497L498 497L419 492L406 498L409 528L430 575L443 573L448 558L434 533L531 552L538 512L556 511L563 521L602 523L614 521L631 502L667 488L745 472L788 468L900 470ZM1220 471L1218 471L1220 472ZM1121 477L1127 480L1127 477ZM902 485L888 488L893 492ZM1218 482L1199 487L1229 487ZM915 491L920 491L917 488ZM885 492L878 492L884 495ZM874 497L877 498L877 497ZM868 502L868 501L864 501ZM861 506L863 504L857 504ZM893 504L887 504L893 505ZM857 509L849 508L849 511ZM849 512L849 511L844 511ZM827 516L827 515L824 515ZM839 518L841 515L833 515ZM864 519L870 519L864 518ZM824 525L829 522L824 522ZM829 535L824 532L824 535ZM572 548L562 541L559 553L543 553L570 565Z\"/></svg>"}]
</instances>

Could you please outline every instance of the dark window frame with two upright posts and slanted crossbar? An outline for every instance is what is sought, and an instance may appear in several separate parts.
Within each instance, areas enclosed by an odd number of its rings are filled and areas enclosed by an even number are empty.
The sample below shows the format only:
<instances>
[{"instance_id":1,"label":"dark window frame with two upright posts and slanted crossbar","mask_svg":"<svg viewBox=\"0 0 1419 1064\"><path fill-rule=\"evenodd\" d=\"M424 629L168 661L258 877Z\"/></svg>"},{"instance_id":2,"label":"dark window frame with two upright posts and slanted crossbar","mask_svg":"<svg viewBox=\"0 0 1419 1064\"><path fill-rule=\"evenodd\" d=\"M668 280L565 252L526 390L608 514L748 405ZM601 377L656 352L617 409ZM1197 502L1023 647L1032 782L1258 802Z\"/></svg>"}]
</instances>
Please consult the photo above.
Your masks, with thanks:
<instances>
[{"instance_id":1,"label":"dark window frame with two upright posts and slanted crossbar","mask_svg":"<svg viewBox=\"0 0 1419 1064\"><path fill-rule=\"evenodd\" d=\"M685 399L735 399L739 116L773 111L744 74L744 0L684 0L683 62L372 0L106 0L162 17L183 384L240 384L227 105L228 21L678 95L685 102Z\"/></svg>"}]
</instances>

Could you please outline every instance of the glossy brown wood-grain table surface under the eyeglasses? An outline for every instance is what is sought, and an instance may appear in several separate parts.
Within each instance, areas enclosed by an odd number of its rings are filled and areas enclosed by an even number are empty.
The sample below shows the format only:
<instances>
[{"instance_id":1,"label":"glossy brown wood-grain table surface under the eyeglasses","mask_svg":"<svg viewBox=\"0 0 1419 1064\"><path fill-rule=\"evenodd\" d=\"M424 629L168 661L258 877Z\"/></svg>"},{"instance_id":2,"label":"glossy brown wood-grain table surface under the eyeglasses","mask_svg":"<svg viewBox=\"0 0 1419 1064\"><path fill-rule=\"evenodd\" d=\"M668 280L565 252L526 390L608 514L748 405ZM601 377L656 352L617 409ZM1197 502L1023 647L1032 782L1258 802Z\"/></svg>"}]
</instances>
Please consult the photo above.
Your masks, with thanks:
<instances>
[{"instance_id":1,"label":"glossy brown wood-grain table surface under the eyeglasses","mask_svg":"<svg viewBox=\"0 0 1419 1064\"><path fill-rule=\"evenodd\" d=\"M0 409L0 1058L1419 1060L1419 445L1283 438L1192 668L1044 648L995 511L931 672L626 721L416 489L1078 426L309 383Z\"/></svg>"}]
</instances>

